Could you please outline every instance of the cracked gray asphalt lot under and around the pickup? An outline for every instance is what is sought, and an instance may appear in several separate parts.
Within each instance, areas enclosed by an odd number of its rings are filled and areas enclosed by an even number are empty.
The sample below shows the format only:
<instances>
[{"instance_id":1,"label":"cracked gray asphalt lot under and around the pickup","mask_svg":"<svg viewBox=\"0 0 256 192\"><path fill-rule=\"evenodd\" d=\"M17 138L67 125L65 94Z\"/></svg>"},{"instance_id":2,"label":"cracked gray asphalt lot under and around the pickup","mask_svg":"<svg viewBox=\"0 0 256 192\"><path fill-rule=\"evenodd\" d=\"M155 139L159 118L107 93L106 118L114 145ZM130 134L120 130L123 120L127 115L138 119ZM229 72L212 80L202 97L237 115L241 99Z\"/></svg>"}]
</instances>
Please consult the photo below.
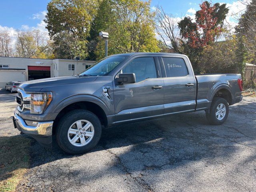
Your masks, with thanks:
<instances>
[{"instance_id":1,"label":"cracked gray asphalt lot under and around the pickup","mask_svg":"<svg viewBox=\"0 0 256 192\"><path fill-rule=\"evenodd\" d=\"M12 98L0 95L0 135L18 137ZM195 112L103 130L87 154L34 140L30 150L17 191L256 191L256 98L230 106L221 126Z\"/></svg>"}]
</instances>

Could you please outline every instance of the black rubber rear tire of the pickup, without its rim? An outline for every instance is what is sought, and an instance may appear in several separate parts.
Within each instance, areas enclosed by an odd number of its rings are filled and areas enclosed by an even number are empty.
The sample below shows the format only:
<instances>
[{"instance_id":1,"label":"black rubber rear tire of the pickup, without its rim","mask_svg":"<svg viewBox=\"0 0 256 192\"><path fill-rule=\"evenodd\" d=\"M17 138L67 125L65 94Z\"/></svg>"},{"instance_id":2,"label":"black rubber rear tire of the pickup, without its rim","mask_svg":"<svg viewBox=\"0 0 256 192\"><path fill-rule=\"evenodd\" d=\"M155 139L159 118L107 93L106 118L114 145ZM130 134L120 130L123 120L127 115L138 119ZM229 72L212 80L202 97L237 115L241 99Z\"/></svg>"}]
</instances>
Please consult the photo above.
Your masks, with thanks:
<instances>
[{"instance_id":1,"label":"black rubber rear tire of the pickup, without its rim","mask_svg":"<svg viewBox=\"0 0 256 192\"><path fill-rule=\"evenodd\" d=\"M224 104L226 107L226 114L224 116L224 118L222 120L218 120L218 118L216 117L216 109L218 107L218 105L220 104ZM224 98L220 98L220 97L216 97L212 100L212 104L210 107L210 110L206 110L205 114L206 114L206 119L208 120L208 122L210 124L213 125L221 125L223 124L226 119L228 118L228 112L229 112L229 108L228 108L228 102L226 99Z\"/></svg>"}]
</instances>

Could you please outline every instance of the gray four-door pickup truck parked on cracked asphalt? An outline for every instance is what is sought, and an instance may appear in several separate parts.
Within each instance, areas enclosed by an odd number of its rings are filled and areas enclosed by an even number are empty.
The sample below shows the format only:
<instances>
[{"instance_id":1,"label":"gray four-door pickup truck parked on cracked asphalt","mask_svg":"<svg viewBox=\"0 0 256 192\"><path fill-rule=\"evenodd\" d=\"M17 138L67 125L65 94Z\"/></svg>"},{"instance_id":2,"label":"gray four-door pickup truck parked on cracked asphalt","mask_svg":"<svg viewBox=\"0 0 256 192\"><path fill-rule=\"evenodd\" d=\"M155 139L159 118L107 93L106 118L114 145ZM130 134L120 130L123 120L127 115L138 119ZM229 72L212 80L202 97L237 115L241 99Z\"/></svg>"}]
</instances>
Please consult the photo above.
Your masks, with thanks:
<instances>
[{"instance_id":1,"label":"gray four-door pickup truck parked on cracked asphalt","mask_svg":"<svg viewBox=\"0 0 256 192\"><path fill-rule=\"evenodd\" d=\"M102 128L122 123L204 110L220 125L241 92L240 74L194 75L185 55L116 54L77 76L22 83L13 120L42 145L56 135L60 148L79 154L98 143Z\"/></svg>"}]
</instances>

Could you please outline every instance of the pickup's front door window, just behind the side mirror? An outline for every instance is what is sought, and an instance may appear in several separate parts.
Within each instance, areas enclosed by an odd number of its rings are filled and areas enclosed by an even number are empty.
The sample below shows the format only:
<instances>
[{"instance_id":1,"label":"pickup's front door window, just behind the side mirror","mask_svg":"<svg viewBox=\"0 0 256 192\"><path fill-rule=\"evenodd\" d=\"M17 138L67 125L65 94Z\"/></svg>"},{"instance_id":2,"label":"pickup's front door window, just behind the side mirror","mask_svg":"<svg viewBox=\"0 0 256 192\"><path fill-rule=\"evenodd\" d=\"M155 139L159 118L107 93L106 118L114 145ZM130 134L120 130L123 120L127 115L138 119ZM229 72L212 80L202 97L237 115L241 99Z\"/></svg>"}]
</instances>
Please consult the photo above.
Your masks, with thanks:
<instances>
[{"instance_id":1,"label":"pickup's front door window, just behind the side mirror","mask_svg":"<svg viewBox=\"0 0 256 192\"><path fill-rule=\"evenodd\" d=\"M122 73L134 73L136 82L140 82L148 78L156 78L156 65L154 58L136 58L122 69Z\"/></svg>"}]
</instances>

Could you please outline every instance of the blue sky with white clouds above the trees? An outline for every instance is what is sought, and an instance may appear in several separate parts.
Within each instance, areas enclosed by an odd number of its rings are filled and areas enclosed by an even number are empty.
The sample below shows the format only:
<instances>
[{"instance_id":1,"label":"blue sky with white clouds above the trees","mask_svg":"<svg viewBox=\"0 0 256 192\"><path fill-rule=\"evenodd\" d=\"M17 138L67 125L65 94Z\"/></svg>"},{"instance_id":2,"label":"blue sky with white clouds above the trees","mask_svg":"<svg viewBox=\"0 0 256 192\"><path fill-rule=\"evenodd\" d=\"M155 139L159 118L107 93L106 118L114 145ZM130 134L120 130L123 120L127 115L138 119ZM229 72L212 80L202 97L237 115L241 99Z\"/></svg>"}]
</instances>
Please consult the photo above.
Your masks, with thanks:
<instances>
[{"instance_id":1,"label":"blue sky with white clouds above the trees","mask_svg":"<svg viewBox=\"0 0 256 192\"><path fill-rule=\"evenodd\" d=\"M46 30L42 21L46 14L46 6L50 0L1 0L0 30ZM168 13L180 17L181 15L193 15L199 9L201 0L152 0L151 6L161 5ZM230 12L242 9L236 0L212 0L228 3ZM231 15L231 13L230 13ZM232 18L228 18L234 22Z\"/></svg>"}]
</instances>

